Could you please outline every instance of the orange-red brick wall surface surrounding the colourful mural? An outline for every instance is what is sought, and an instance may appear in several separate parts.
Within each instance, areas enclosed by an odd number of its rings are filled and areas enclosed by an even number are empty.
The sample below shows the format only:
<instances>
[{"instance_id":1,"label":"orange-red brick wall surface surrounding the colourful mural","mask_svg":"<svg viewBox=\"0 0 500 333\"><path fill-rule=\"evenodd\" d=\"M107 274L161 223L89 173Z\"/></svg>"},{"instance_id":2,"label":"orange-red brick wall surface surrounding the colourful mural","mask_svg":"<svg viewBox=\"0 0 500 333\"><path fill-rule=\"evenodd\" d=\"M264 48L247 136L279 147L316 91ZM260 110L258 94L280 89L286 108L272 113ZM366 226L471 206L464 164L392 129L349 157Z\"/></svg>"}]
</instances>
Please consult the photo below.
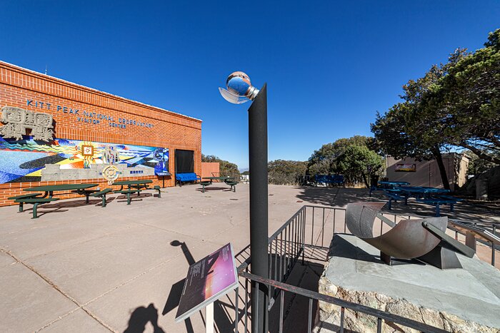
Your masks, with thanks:
<instances>
[{"instance_id":1,"label":"orange-red brick wall surface surrounding the colourful mural","mask_svg":"<svg viewBox=\"0 0 500 333\"><path fill-rule=\"evenodd\" d=\"M50 113L56 123L54 128L56 138L169 148L169 170L172 175L175 172L175 150L194 150L194 171L201 173L201 121L198 119L0 61L0 108L3 106L16 106L29 111ZM70 108L72 111L79 110L81 116L83 116L83 111L101 113L112 116L116 124L119 124L119 118L124 118L148 123L153 127L126 125L125 128L117 128L110 126L109 121L106 120L90 125L79 121L79 116L74 113L69 113ZM120 178L120 180L129 179L151 179L154 185L163 184L162 178L156 176ZM101 188L107 187L104 179L82 181L99 183ZM25 194L23 188L80 182L80 180L66 180L0 184L0 206L12 205L13 202L6 198ZM167 177L165 185L174 186L174 177ZM71 195L61 196L61 198L70 197Z\"/></svg>"}]
</instances>

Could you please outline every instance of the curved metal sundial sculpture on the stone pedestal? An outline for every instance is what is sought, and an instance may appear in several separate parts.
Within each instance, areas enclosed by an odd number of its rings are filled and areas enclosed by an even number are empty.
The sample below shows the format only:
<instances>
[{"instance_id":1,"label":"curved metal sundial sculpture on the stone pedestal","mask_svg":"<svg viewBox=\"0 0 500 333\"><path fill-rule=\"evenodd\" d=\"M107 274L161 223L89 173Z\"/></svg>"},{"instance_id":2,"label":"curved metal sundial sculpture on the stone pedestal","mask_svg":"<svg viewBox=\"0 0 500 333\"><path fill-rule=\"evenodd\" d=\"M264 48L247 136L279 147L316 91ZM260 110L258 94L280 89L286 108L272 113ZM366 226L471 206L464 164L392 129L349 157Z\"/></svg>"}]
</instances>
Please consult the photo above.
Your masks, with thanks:
<instances>
[{"instance_id":1,"label":"curved metal sundial sculpture on the stone pedestal","mask_svg":"<svg viewBox=\"0 0 500 333\"><path fill-rule=\"evenodd\" d=\"M473 257L475 251L446 235L448 217L401 220L397 224L379 213L385 203L349 203L346 225L349 231L380 250L380 258L391 265L391 257L418 259L441 269L461 268L456 252ZM391 230L374 237L375 219Z\"/></svg>"}]
</instances>

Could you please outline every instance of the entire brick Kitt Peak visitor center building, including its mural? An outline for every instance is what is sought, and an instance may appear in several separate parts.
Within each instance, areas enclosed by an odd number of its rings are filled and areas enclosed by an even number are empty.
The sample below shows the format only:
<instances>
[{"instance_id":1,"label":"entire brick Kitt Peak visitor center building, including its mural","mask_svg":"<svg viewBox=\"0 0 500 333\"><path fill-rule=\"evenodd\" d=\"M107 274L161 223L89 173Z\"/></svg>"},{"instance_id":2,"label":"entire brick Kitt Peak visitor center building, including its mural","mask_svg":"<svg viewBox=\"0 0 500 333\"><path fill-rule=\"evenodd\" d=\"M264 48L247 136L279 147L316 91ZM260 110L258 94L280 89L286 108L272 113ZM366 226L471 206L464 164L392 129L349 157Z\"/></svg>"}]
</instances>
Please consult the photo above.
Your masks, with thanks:
<instances>
[{"instance_id":1,"label":"entire brick Kitt Peak visitor center building, including its mural","mask_svg":"<svg viewBox=\"0 0 500 333\"><path fill-rule=\"evenodd\" d=\"M196 118L2 61L0 108L0 206L12 205L8 197L32 186L109 187L105 165L119 167L119 180L151 179L161 186L174 186L180 169L201 173Z\"/></svg>"}]
</instances>

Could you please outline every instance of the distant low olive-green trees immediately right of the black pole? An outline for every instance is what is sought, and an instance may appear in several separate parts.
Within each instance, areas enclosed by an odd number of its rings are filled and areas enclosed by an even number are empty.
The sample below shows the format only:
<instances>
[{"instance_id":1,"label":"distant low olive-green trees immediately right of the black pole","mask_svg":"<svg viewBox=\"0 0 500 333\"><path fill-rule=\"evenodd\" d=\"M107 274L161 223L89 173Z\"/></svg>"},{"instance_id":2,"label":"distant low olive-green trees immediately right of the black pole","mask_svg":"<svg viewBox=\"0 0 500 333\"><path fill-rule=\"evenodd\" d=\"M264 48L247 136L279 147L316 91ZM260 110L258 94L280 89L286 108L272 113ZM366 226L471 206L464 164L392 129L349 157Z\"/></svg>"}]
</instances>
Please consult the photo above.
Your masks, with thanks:
<instances>
[{"instance_id":1,"label":"distant low olive-green trees immediately right of the black pole","mask_svg":"<svg viewBox=\"0 0 500 333\"><path fill-rule=\"evenodd\" d=\"M299 176L305 175L307 162L299 160L271 160L267 164L269 184L291 185L299 183Z\"/></svg>"}]
</instances>

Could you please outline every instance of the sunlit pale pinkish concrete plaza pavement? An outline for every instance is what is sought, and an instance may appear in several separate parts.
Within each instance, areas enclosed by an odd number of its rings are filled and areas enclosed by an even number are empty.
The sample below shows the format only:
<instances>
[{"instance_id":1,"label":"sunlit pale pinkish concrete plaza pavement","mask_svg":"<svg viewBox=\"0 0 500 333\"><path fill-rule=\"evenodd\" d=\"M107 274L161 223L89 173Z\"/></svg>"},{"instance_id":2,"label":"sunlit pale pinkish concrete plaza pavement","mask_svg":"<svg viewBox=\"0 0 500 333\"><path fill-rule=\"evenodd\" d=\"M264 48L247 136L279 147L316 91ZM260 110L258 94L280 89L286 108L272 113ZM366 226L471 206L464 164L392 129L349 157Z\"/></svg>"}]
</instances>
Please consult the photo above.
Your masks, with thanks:
<instances>
[{"instance_id":1,"label":"sunlit pale pinkish concrete plaza pavement","mask_svg":"<svg viewBox=\"0 0 500 333\"><path fill-rule=\"evenodd\" d=\"M228 189L214 184L201 193L198 185L186 185L164 190L161 198L143 195L131 205L114 195L106 208L100 199L91 205L62 200L41 206L37 220L31 210L0 208L1 331L203 332L201 314L174 322L176 299L191 263L227 242L236 252L249 244L249 187ZM271 185L269 232L304 204L360 200L377 198L366 190ZM432 214L423 205L395 208ZM465 205L455 215L498 218ZM229 318L221 320L232 298L216 307L220 327L231 326Z\"/></svg>"}]
</instances>

